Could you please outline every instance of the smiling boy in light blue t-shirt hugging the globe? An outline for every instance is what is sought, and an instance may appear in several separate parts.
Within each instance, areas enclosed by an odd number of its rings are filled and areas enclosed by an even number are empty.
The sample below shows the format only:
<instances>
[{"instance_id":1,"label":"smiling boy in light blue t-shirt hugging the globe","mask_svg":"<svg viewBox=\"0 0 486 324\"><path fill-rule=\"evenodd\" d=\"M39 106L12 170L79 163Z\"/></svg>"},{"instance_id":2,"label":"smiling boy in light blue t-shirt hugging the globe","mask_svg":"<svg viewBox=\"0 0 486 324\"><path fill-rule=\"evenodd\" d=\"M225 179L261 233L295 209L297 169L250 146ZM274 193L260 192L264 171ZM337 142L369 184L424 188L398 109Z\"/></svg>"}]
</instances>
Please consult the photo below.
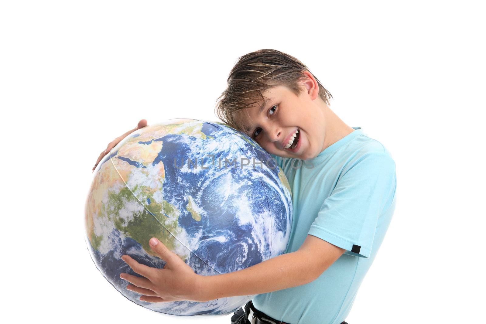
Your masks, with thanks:
<instances>
[{"instance_id":1,"label":"smiling boy in light blue t-shirt hugging the globe","mask_svg":"<svg viewBox=\"0 0 486 324\"><path fill-rule=\"evenodd\" d=\"M150 278L152 290L139 288L144 283L139 286L133 276L123 274L135 283L129 286L143 295L140 299L177 300L175 293L167 292L171 289L184 290L179 298L200 301L257 294L244 310L235 312L232 323L248 323L251 312L252 323L345 323L391 221L396 176L388 151L359 127L339 119L330 110L330 98L295 57L276 50L240 57L218 98L216 113L254 138L287 176L294 215L285 254L241 271L196 278L154 239L152 248L169 268L187 272L177 281L191 282L199 295L188 287L161 288ZM138 128L145 125L141 120ZM140 269L136 261L123 257Z\"/></svg>"}]
</instances>

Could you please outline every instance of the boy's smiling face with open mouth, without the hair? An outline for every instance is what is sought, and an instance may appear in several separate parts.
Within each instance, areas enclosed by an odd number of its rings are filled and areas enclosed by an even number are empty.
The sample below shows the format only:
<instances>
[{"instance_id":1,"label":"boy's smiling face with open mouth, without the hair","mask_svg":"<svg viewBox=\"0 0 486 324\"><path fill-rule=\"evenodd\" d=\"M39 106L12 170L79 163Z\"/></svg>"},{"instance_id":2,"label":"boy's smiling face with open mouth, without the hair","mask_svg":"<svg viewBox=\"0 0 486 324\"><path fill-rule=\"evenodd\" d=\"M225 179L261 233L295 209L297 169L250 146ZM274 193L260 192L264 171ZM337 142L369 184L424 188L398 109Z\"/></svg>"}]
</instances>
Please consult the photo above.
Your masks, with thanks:
<instances>
[{"instance_id":1,"label":"boy's smiling face with open mouth, without the hair","mask_svg":"<svg viewBox=\"0 0 486 324\"><path fill-rule=\"evenodd\" d=\"M308 160L322 151L326 129L322 105L326 104L312 81L303 85L305 90L298 96L283 85L272 87L262 93L267 101L261 110L262 100L245 109L246 134L267 152Z\"/></svg>"}]
</instances>

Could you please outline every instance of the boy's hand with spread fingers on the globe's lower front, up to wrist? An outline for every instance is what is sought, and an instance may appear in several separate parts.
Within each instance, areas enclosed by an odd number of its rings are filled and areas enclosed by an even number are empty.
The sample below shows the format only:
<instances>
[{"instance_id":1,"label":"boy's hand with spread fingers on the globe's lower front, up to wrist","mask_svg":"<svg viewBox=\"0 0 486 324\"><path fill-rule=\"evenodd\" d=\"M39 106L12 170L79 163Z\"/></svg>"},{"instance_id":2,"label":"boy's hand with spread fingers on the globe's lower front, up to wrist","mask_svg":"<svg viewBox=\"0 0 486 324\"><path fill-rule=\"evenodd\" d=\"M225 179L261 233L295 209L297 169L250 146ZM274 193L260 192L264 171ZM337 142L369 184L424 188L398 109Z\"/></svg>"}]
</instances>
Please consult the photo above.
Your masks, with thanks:
<instances>
[{"instance_id":1,"label":"boy's hand with spread fingers on the globe's lower front, up to wrist","mask_svg":"<svg viewBox=\"0 0 486 324\"><path fill-rule=\"evenodd\" d=\"M133 271L145 277L121 273L120 278L131 283L126 288L138 292L142 295L140 300L149 303L200 301L199 282L202 276L196 274L158 239L150 239L149 245L167 264L163 269L152 268L137 262L130 256L121 256Z\"/></svg>"}]
</instances>

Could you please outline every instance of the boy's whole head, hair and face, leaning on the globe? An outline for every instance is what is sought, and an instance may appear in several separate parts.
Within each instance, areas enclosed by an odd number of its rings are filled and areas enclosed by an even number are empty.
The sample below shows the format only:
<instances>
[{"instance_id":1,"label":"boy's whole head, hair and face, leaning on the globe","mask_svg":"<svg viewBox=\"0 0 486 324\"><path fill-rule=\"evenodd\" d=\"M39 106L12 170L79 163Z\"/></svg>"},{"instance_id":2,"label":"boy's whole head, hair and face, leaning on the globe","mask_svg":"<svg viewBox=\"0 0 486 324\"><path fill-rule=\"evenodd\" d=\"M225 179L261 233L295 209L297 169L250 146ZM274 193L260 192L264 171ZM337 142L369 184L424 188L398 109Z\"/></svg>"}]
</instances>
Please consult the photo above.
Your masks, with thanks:
<instances>
[{"instance_id":1,"label":"boy's whole head, hair and face, leaning on the globe","mask_svg":"<svg viewBox=\"0 0 486 324\"><path fill-rule=\"evenodd\" d=\"M275 155L307 160L322 151L332 96L302 62L254 51L239 58L227 82L215 109L226 124Z\"/></svg>"}]
</instances>

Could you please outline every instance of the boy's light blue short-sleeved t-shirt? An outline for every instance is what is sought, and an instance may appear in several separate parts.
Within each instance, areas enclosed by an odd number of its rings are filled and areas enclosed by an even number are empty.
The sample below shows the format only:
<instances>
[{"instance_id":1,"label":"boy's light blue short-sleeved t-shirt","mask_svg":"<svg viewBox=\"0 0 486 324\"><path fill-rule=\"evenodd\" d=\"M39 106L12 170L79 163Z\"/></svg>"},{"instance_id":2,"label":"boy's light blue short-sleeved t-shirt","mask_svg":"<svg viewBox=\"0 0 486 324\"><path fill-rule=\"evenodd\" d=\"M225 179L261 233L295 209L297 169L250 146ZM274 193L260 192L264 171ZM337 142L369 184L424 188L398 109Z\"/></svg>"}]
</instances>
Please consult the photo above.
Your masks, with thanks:
<instances>
[{"instance_id":1,"label":"boy's light blue short-sleeved t-shirt","mask_svg":"<svg viewBox=\"0 0 486 324\"><path fill-rule=\"evenodd\" d=\"M294 204L285 253L297 251L308 234L347 250L314 281L253 298L257 309L279 321L343 322L391 221L395 162L380 142L353 128L313 159L273 155Z\"/></svg>"}]
</instances>

